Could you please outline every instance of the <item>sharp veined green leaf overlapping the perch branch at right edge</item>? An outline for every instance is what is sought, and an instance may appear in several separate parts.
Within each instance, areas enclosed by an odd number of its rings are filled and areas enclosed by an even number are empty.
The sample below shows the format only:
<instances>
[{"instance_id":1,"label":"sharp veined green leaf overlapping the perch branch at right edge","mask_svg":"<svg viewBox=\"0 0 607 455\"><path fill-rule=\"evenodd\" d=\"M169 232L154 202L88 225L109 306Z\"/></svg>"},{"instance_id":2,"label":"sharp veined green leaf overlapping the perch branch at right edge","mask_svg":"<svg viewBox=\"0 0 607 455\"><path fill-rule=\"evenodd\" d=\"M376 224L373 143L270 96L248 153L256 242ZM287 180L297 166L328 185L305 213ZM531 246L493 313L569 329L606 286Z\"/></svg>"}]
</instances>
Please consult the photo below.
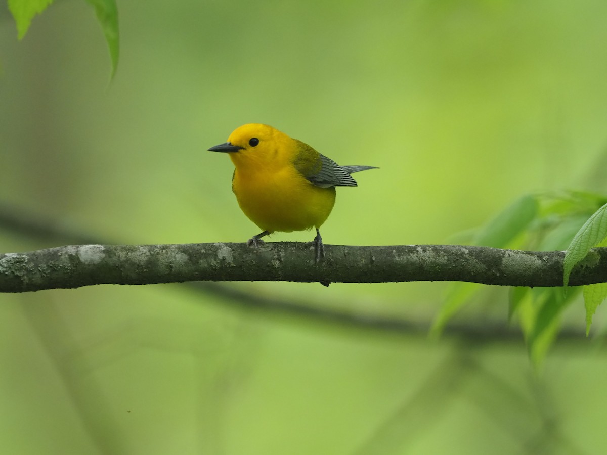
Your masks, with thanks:
<instances>
[{"instance_id":1,"label":"sharp veined green leaf overlapping the perch branch at right edge","mask_svg":"<svg viewBox=\"0 0 607 455\"><path fill-rule=\"evenodd\" d=\"M563 286L567 288L569 275L574 266L586 257L591 248L594 248L607 236L607 204L597 210L592 217L577 231L569 244L563 261Z\"/></svg>"}]
</instances>

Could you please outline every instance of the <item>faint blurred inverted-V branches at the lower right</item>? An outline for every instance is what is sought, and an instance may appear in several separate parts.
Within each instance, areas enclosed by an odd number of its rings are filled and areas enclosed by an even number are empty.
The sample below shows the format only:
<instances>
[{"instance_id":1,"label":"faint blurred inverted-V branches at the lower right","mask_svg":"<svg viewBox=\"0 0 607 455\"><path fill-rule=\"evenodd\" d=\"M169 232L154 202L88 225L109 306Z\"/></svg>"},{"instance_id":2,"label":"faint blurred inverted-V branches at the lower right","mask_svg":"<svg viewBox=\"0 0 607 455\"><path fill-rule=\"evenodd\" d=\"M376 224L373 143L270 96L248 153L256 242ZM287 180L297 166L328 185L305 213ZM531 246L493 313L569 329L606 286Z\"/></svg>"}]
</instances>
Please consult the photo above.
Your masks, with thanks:
<instances>
[{"instance_id":1,"label":"faint blurred inverted-V branches at the lower right","mask_svg":"<svg viewBox=\"0 0 607 455\"><path fill-rule=\"evenodd\" d=\"M548 453L546 447L555 445L566 448L569 454L585 453L568 436L557 414L551 412L554 397L545 384L533 382L541 399L521 394L503 377L486 369L474 347L466 341L455 343L428 375L427 382L399 403L356 455L399 454L402 447L413 447L436 420L446 418L456 400L471 403L484 419L499 426L512 440L520 441L517 453Z\"/></svg>"}]
</instances>

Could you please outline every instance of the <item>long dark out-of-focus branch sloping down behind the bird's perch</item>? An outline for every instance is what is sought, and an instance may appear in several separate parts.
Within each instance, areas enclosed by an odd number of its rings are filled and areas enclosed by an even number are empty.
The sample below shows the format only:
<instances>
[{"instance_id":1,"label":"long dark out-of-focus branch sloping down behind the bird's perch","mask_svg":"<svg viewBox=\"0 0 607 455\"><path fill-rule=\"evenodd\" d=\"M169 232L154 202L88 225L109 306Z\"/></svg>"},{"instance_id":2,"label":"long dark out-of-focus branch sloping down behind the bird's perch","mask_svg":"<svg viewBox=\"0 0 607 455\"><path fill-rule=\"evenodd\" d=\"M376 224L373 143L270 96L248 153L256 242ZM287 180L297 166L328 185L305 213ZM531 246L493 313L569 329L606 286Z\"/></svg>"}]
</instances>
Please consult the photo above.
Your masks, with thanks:
<instances>
[{"instance_id":1,"label":"long dark out-of-focus branch sloping down behind the bird's perch","mask_svg":"<svg viewBox=\"0 0 607 455\"><path fill-rule=\"evenodd\" d=\"M101 239L89 237L75 229L68 229L64 224L56 223L44 217L31 213L24 213L15 207L0 204L0 227L19 234L34 238L44 238L55 241L89 241L97 243ZM215 282L192 281L182 283L182 286L205 294L213 294L223 298L223 302L238 305L242 309L261 309L274 314L297 315L299 317L325 320L346 326L367 328L379 331L391 331L410 335L426 336L431 323L428 321L408 320L396 317L385 317L374 314L361 314L354 311L342 311L323 306L311 306L308 302L298 302L290 298L285 300L279 297L256 295L244 292L229 285ZM223 303L222 302L222 303ZM466 323L450 322L444 329L444 335L461 337L475 342L490 342L492 340L508 340L519 342L520 329L503 322L489 322L483 320ZM580 328L562 328L558 333L559 339L582 340L586 337Z\"/></svg>"}]
</instances>

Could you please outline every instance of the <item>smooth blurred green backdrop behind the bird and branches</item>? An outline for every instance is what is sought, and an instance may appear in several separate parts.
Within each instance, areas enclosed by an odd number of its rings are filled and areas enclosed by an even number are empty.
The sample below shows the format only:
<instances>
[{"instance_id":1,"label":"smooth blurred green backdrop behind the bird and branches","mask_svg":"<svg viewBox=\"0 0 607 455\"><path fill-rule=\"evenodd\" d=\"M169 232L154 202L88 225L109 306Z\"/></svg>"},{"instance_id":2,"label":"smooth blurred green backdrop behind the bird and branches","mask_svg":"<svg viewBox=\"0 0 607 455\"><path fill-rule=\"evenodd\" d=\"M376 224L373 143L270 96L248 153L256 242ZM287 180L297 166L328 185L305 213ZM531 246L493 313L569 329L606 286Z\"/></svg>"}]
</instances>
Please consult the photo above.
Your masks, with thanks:
<instances>
[{"instance_id":1,"label":"smooth blurred green backdrop behind the bird and branches","mask_svg":"<svg viewBox=\"0 0 607 455\"><path fill-rule=\"evenodd\" d=\"M5 8L3 5L2 8ZM449 243L520 195L605 192L607 4L118 0L121 59L63 0L0 21L0 202L106 243L259 229L206 152L271 124L341 164L325 243ZM310 232L272 240L311 240ZM2 252L62 244L0 226ZM63 240L70 243L70 238ZM540 371L488 288L430 340L444 283L232 283L0 296L0 446L16 454L596 454L605 318ZM412 322L365 327L364 315ZM499 329L493 329L497 326Z\"/></svg>"}]
</instances>

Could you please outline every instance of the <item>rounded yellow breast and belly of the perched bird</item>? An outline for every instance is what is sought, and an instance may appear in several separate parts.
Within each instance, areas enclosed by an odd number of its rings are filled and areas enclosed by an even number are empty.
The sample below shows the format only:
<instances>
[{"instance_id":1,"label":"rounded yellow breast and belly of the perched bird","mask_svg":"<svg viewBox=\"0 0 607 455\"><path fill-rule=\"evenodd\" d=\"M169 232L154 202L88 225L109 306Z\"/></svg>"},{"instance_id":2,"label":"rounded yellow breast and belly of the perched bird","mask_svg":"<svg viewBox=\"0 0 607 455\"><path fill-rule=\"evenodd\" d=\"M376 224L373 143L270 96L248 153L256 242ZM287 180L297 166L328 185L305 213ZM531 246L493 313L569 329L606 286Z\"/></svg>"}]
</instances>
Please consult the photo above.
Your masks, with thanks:
<instances>
[{"instance_id":1,"label":"rounded yellow breast and belly of the perched bird","mask_svg":"<svg viewBox=\"0 0 607 455\"><path fill-rule=\"evenodd\" d=\"M295 169L263 177L236 170L232 189L249 220L268 232L320 227L335 203L334 187L314 186Z\"/></svg>"}]
</instances>

